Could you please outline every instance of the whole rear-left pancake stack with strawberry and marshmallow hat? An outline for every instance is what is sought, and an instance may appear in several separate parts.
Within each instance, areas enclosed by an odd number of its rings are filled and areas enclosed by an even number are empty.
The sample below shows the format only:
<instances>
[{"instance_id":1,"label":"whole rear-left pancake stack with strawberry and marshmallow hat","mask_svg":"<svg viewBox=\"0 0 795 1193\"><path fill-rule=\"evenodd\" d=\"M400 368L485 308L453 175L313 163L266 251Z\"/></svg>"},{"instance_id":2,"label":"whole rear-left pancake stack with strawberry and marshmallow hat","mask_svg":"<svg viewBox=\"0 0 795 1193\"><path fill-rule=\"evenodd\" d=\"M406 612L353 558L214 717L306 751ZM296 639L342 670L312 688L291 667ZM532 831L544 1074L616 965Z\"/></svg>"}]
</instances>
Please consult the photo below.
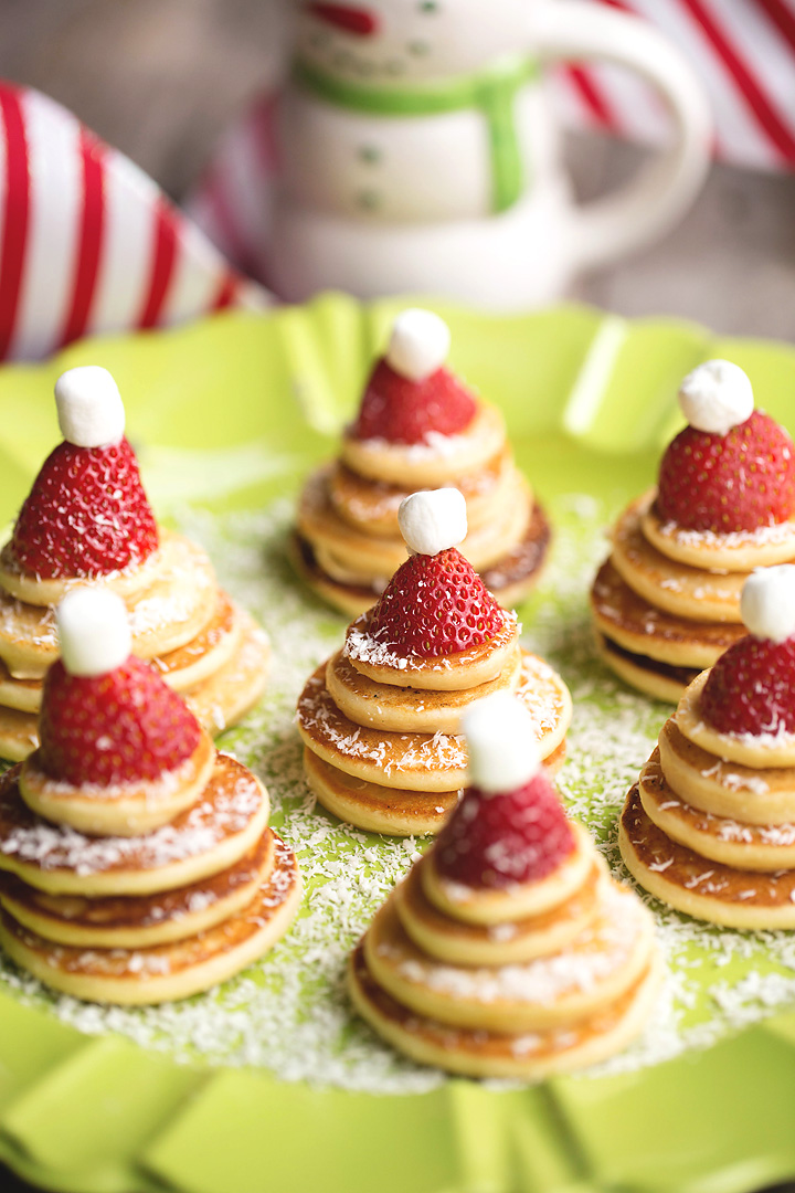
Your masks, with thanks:
<instances>
[{"instance_id":1,"label":"whole rear-left pancake stack with strawberry and marshmallow hat","mask_svg":"<svg viewBox=\"0 0 795 1193\"><path fill-rule=\"evenodd\" d=\"M0 756L38 744L42 682L57 659L55 606L79 585L124 599L132 649L221 733L265 687L268 642L219 587L205 552L157 527L104 369L56 384L64 437L44 462L0 552Z\"/></svg>"}]
</instances>

